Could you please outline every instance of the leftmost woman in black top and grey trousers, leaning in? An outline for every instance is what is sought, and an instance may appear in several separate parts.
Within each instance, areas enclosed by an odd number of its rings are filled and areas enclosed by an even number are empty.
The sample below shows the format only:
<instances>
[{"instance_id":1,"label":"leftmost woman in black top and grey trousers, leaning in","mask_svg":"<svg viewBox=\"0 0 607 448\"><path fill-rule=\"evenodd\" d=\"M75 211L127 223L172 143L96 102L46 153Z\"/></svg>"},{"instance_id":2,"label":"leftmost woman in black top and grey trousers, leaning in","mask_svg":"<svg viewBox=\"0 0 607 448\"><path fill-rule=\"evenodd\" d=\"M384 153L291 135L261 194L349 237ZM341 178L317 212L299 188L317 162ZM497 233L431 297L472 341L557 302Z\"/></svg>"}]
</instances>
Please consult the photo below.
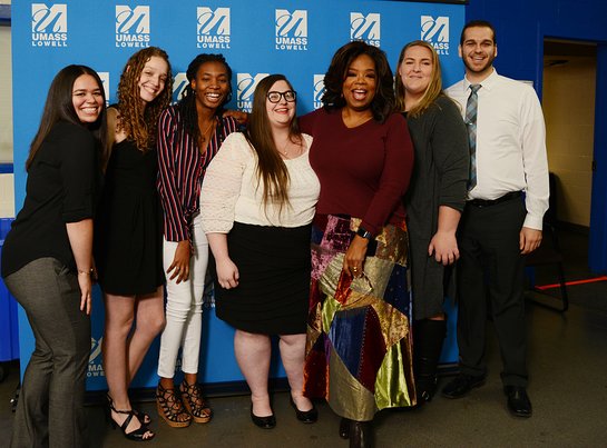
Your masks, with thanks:
<instances>
[{"instance_id":1,"label":"leftmost woman in black top and grey trousers, leaning in","mask_svg":"<svg viewBox=\"0 0 607 448\"><path fill-rule=\"evenodd\" d=\"M106 133L101 80L88 67L66 67L50 87L26 162L26 201L2 250L2 277L36 338L13 448L88 446L92 217Z\"/></svg>"}]
</instances>

